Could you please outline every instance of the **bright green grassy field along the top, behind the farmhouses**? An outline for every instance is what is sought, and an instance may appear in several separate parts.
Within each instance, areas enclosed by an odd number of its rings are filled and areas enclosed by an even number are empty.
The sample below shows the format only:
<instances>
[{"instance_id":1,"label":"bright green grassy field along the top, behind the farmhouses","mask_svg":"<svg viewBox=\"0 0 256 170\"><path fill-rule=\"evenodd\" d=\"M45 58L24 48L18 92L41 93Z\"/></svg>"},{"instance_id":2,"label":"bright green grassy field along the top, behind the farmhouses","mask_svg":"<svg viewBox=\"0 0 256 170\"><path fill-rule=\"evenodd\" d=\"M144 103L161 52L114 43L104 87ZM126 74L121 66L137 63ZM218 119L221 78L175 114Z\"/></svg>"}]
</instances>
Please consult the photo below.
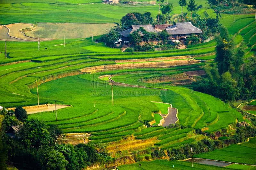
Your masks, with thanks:
<instances>
[{"instance_id":1,"label":"bright green grassy field along the top, behind the farmhouses","mask_svg":"<svg viewBox=\"0 0 256 170\"><path fill-rule=\"evenodd\" d=\"M148 0L147 0L148 1ZM134 1L136 2L136 1ZM139 1L138 1L139 2ZM196 0L197 4L205 7L206 0ZM167 3L167 1L165 2ZM170 2L169 2L170 3ZM181 13L178 3L173 3L174 9L171 15ZM152 17L158 15L158 3L155 5L109 5L102 4L101 0L93 1L1 1L0 2L0 24L11 23L120 23L120 19L129 12L144 13L151 12ZM187 9L184 8L183 12ZM32 14L32 15L31 15Z\"/></svg>"}]
</instances>

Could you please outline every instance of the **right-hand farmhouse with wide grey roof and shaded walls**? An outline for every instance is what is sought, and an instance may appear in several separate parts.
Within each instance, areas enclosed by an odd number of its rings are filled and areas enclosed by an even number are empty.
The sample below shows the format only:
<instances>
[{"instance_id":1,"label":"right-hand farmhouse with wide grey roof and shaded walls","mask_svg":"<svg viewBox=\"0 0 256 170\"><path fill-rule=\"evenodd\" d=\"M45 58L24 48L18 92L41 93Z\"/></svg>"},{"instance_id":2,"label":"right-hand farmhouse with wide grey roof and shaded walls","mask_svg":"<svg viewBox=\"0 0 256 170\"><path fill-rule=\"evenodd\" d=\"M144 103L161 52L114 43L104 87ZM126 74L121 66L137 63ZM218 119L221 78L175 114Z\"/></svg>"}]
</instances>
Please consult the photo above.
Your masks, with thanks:
<instances>
[{"instance_id":1,"label":"right-hand farmhouse with wide grey roof and shaded walls","mask_svg":"<svg viewBox=\"0 0 256 170\"><path fill-rule=\"evenodd\" d=\"M190 22L176 23L176 25L165 28L166 32L171 35L172 40L186 39L188 35L198 35L202 31L193 26Z\"/></svg>"}]
</instances>

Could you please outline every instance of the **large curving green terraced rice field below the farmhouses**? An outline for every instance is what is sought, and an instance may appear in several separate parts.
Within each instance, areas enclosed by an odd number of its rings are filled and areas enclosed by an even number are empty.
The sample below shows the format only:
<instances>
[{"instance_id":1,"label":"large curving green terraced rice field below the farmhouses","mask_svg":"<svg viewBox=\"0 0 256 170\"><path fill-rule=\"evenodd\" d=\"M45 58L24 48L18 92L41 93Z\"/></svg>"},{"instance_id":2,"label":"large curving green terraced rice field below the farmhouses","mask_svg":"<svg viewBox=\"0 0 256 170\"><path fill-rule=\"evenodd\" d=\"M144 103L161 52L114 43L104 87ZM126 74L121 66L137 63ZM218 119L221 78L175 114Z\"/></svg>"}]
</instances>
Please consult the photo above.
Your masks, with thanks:
<instances>
[{"instance_id":1,"label":"large curving green terraced rice field below the farmhouses","mask_svg":"<svg viewBox=\"0 0 256 170\"><path fill-rule=\"evenodd\" d=\"M234 33L241 30L249 55L255 48L255 30L243 30L252 28L254 22L251 23L252 16L241 20L246 22L237 22L234 26L238 28L229 29L234 29ZM206 63L212 62L214 41L183 50L133 54L109 49L91 38L66 40L65 47L60 44L62 40L43 41L38 50L37 42L7 42L8 59L5 59L4 41L0 41L1 106L36 105L37 81L40 104L53 104L56 100L57 104L72 107L58 110L58 122L52 111L31 114L29 119L57 124L65 133L90 133L88 139L108 144L112 155L127 156L139 150L144 152L143 159L148 158L145 151L148 147L175 148L204 138L195 129L211 133L243 121L243 116L228 104L183 87L193 81L188 80L185 72L203 70ZM185 61L181 59L183 56L190 57ZM152 65L152 60L146 61L153 58L156 65ZM181 64L162 65L166 60L181 61ZM119 63L139 65L122 67ZM145 87L113 85L112 90L108 81L99 78L103 75L112 75L116 82ZM161 110L152 101L170 103L177 108L179 123L185 128L146 128L154 120L152 113ZM174 164L178 166L177 162ZM182 166L187 167L185 164Z\"/></svg>"}]
</instances>

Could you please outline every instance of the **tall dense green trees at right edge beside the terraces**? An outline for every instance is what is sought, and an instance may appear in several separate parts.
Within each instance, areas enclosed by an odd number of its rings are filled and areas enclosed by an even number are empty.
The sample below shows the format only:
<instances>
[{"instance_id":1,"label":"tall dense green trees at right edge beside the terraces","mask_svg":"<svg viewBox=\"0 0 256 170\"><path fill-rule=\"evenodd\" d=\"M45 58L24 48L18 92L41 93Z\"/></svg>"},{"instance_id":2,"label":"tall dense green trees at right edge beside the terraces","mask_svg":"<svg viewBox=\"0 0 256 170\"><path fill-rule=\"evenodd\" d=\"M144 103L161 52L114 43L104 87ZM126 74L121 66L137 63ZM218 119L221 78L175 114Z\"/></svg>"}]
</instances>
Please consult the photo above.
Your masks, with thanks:
<instances>
[{"instance_id":1,"label":"tall dense green trees at right edge beside the terraces","mask_svg":"<svg viewBox=\"0 0 256 170\"><path fill-rule=\"evenodd\" d=\"M244 60L244 51L235 47L224 26L220 27L220 35L215 39L217 67L206 65L207 77L194 82L193 89L223 101L256 98L255 57Z\"/></svg>"}]
</instances>

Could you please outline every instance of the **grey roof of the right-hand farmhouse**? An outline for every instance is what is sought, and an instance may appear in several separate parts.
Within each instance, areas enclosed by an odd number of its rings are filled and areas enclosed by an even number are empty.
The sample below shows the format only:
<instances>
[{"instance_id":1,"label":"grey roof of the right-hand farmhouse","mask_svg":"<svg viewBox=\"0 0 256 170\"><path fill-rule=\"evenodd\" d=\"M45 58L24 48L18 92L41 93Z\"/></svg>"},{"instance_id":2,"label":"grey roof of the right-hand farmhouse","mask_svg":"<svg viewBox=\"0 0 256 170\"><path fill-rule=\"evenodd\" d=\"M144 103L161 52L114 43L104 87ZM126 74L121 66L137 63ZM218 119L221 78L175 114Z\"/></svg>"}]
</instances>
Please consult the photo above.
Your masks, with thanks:
<instances>
[{"instance_id":1,"label":"grey roof of the right-hand farmhouse","mask_svg":"<svg viewBox=\"0 0 256 170\"><path fill-rule=\"evenodd\" d=\"M190 22L177 23L176 25L167 27L165 30L171 35L202 33L199 28L193 26Z\"/></svg>"}]
</instances>

